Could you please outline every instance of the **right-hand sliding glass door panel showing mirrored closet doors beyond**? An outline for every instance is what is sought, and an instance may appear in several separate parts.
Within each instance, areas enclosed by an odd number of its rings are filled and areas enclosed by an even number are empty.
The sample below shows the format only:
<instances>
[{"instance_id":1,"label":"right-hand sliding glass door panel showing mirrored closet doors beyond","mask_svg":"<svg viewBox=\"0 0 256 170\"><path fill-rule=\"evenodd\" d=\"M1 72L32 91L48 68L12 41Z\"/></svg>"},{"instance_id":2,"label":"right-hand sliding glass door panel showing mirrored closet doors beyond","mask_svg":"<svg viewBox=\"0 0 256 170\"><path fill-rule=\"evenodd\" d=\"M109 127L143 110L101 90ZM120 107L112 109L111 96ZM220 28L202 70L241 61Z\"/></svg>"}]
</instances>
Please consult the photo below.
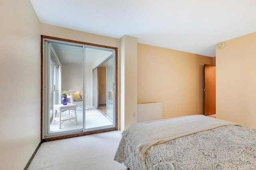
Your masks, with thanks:
<instances>
[{"instance_id":1,"label":"right-hand sliding glass door panel showing mirrored closet doors beyond","mask_svg":"<svg viewBox=\"0 0 256 170\"><path fill-rule=\"evenodd\" d=\"M113 109L113 106L115 106L115 103L113 103L115 100L113 91L115 83L113 71L114 54L114 50L86 47L86 93L90 94L90 89L92 89L93 99L91 106L88 100L88 108L85 111L86 123L84 131L116 126L113 121L115 117L113 114L115 112ZM88 84L90 83L91 75L92 84ZM92 124L92 122L94 123Z\"/></svg>"}]
</instances>

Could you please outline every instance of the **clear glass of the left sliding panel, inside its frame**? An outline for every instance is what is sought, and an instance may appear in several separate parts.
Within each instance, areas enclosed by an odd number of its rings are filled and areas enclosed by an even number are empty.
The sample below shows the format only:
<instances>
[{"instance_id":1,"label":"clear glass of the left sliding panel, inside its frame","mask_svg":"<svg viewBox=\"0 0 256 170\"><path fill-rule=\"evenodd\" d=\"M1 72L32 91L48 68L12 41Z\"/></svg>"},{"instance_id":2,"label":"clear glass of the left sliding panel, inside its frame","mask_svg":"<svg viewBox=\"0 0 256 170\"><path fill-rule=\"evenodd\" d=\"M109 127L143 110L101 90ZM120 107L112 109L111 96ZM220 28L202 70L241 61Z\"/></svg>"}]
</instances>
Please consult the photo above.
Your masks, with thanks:
<instances>
[{"instance_id":1,"label":"clear glass of the left sliding panel, inside its frame","mask_svg":"<svg viewBox=\"0 0 256 170\"><path fill-rule=\"evenodd\" d=\"M50 51L50 116L48 117L48 133L82 129L83 101L80 101L81 107L71 107L70 104L78 103L75 102L75 98L70 97L71 93L68 93L68 104L64 106L62 103L64 96L61 95L61 92L76 90L81 92L80 94L83 93L83 49L74 45L51 43Z\"/></svg>"}]
</instances>

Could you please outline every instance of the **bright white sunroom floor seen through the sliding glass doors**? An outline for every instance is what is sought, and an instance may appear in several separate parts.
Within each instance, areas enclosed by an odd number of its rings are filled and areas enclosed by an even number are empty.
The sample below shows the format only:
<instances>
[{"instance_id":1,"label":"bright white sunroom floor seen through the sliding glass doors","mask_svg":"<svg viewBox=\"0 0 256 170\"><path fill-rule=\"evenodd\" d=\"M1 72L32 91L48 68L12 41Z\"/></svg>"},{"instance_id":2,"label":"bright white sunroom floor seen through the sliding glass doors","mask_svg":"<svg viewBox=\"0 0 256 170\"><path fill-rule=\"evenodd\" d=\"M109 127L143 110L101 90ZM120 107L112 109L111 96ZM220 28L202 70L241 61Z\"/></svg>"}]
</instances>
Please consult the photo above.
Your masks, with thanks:
<instances>
[{"instance_id":1,"label":"bright white sunroom floor seen through the sliding glass doors","mask_svg":"<svg viewBox=\"0 0 256 170\"><path fill-rule=\"evenodd\" d=\"M68 115L68 111L65 111L61 113L61 115ZM74 116L75 113L70 111L70 115ZM77 115L77 123L76 121L64 121L61 125L61 129L59 129L59 124L57 121L54 121L54 125L52 125L52 121L50 121L50 132L64 132L68 130L76 130L76 129L82 129L83 128L83 109L80 109L77 107L76 110ZM58 113L56 113L56 117L58 117ZM102 113L100 113L97 109L95 109L93 106L87 106L86 109L86 121L85 126L86 129L88 128L96 128L96 127L103 127L113 125L113 123L107 119Z\"/></svg>"}]
</instances>

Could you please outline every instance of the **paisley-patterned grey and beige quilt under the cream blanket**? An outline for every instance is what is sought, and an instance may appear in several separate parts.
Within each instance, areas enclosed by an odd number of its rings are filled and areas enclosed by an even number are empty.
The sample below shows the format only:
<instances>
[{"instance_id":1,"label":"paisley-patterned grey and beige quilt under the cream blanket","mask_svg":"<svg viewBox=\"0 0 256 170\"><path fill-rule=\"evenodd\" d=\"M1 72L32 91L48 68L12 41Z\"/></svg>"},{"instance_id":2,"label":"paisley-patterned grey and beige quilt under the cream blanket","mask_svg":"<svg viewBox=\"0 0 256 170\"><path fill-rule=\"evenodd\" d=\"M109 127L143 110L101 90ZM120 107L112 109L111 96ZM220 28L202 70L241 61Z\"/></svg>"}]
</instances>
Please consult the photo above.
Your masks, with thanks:
<instances>
[{"instance_id":1,"label":"paisley-patterned grey and beige quilt under the cream blanket","mask_svg":"<svg viewBox=\"0 0 256 170\"><path fill-rule=\"evenodd\" d=\"M114 160L143 170L123 139ZM256 129L226 125L156 144L145 164L147 170L256 170Z\"/></svg>"}]
</instances>

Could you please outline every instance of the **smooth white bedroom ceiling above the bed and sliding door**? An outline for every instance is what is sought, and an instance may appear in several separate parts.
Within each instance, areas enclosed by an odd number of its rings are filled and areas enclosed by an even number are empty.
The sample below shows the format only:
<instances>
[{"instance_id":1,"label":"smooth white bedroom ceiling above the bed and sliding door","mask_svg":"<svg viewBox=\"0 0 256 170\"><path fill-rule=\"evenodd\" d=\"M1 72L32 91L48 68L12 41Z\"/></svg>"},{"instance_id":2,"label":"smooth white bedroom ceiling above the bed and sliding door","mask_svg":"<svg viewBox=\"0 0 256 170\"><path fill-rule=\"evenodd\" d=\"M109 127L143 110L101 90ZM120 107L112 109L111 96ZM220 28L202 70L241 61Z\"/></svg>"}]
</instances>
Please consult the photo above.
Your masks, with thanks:
<instances>
[{"instance_id":1,"label":"smooth white bedroom ceiling above the bed and sliding door","mask_svg":"<svg viewBox=\"0 0 256 170\"><path fill-rule=\"evenodd\" d=\"M256 0L30 0L42 23L215 57L256 32Z\"/></svg>"}]
</instances>

